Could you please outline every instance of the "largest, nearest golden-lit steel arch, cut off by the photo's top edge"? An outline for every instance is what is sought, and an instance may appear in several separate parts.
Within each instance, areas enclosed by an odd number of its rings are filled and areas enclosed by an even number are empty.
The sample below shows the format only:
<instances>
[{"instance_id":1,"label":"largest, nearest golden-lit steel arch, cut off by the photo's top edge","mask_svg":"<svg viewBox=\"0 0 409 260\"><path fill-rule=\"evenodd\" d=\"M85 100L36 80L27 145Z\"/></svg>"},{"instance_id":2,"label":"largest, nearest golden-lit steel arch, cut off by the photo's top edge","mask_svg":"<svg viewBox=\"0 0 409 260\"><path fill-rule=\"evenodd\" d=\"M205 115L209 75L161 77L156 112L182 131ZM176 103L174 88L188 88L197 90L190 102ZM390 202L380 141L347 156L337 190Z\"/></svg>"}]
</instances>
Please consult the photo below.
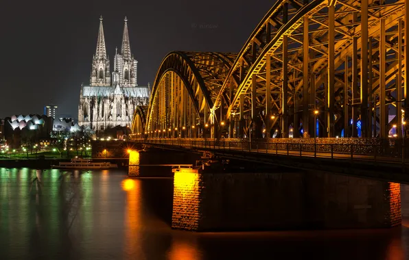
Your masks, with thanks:
<instances>
[{"instance_id":1,"label":"largest, nearest golden-lit steel arch, cut off by the photo's top edge","mask_svg":"<svg viewBox=\"0 0 409 260\"><path fill-rule=\"evenodd\" d=\"M215 124L221 128L230 121L231 137L270 137L275 128L286 138L290 127L294 127L294 137L298 129L314 137L316 125L319 136L335 137L345 126L348 136L356 136L349 120L354 118L356 124L360 118L366 127L363 136L372 136L371 122L383 120L375 129L387 125L384 101L397 104L393 102L397 82L402 90L403 79L395 75L404 70L403 49L393 46L403 42L398 31L403 27L406 1L393 2L277 1L244 44L222 84L212 109ZM386 59L391 51L394 58ZM375 64L386 66L379 65L381 71ZM238 79L237 84L232 79ZM371 104L382 109L373 111ZM384 136L385 130L375 136Z\"/></svg>"}]
</instances>

